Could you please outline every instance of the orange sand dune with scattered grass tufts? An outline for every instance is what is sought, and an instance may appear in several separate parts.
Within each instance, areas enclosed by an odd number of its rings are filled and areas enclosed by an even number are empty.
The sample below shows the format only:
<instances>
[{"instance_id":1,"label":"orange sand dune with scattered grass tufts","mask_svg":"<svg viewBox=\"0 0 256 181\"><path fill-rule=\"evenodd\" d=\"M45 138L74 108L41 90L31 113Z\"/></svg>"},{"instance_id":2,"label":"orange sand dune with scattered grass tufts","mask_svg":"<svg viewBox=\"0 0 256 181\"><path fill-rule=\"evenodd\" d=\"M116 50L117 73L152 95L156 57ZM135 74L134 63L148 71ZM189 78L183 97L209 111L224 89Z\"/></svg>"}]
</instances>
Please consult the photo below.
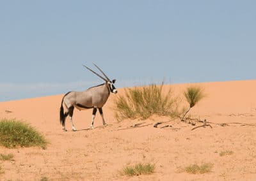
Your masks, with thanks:
<instances>
[{"instance_id":1,"label":"orange sand dune with scattered grass tufts","mask_svg":"<svg viewBox=\"0 0 256 181\"><path fill-rule=\"evenodd\" d=\"M4 170L0 180L40 180L42 177L49 180L255 180L256 127L239 124L222 127L218 123L256 123L256 80L196 84L204 87L207 97L191 110L191 114L213 122L212 129L191 131L193 126L179 120L166 123L172 127L164 129L152 125L124 129L140 122L154 124L170 118L154 116L143 121L116 122L113 94L104 107L109 125L102 127L97 115L96 128L88 129L92 110L75 110L74 124L79 129L76 132L70 131L69 121L68 131L61 129L58 116L63 95L2 102L1 118L29 122L50 143L46 150L0 147L0 153L15 156L15 161L0 161ZM171 86L179 96L188 85ZM118 90L118 94L123 93L124 90ZM221 157L220 152L225 150L233 154ZM156 163L156 171L136 177L120 175L125 165L134 163ZM180 171L194 163L214 166L211 173L205 174Z\"/></svg>"}]
</instances>

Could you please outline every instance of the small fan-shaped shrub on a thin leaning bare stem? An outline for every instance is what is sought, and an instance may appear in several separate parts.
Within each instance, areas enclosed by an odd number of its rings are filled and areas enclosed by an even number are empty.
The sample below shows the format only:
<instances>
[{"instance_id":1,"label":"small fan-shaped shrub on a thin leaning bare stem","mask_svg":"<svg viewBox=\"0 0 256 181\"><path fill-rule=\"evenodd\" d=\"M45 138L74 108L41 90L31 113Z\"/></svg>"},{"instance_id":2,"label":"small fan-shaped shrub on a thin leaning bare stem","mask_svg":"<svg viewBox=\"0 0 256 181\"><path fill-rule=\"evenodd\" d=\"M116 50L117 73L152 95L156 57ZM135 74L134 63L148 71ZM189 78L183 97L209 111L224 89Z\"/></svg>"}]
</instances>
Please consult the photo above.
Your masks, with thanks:
<instances>
[{"instance_id":1,"label":"small fan-shaped shrub on a thin leaning bare stem","mask_svg":"<svg viewBox=\"0 0 256 181\"><path fill-rule=\"evenodd\" d=\"M181 119L182 121L184 121L186 115L191 110L191 108L193 108L193 106L195 106L196 103L198 103L202 98L205 97L205 94L204 94L204 90L201 87L191 86L191 87L188 87L186 91L184 91L184 96L186 98L186 101L188 101L189 103L189 108L184 113Z\"/></svg>"}]
</instances>

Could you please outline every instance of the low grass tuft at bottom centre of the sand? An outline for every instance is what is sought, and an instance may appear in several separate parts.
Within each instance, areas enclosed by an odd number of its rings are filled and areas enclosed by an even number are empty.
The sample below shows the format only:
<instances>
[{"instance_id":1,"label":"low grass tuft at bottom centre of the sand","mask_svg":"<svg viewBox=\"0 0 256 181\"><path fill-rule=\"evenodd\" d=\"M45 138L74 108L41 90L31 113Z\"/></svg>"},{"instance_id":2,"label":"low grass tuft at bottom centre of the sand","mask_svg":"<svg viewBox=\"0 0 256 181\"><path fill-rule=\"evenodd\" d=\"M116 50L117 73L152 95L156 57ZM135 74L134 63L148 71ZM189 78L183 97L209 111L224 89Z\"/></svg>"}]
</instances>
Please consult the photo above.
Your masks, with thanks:
<instances>
[{"instance_id":1,"label":"low grass tuft at bottom centre of the sand","mask_svg":"<svg viewBox=\"0 0 256 181\"><path fill-rule=\"evenodd\" d=\"M155 170L155 164L135 164L134 166L126 166L123 169L123 173L124 175L128 175L128 176L134 176L134 175L147 175L147 174L151 174L154 173Z\"/></svg>"}]
</instances>

